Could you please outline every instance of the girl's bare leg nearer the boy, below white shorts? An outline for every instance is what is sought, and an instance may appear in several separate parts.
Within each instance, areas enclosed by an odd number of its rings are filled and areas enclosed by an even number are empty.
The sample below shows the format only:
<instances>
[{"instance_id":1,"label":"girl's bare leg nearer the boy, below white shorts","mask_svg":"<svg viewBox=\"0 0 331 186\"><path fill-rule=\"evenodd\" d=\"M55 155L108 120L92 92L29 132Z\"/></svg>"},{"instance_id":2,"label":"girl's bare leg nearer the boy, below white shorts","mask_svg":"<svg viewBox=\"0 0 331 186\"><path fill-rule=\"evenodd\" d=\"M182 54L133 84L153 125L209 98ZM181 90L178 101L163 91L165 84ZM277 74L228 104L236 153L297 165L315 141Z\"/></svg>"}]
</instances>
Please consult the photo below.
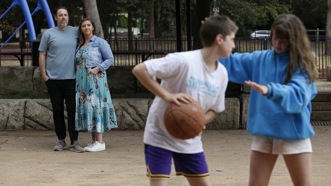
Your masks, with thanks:
<instances>
[{"instance_id":1,"label":"girl's bare leg nearer the boy, below white shorts","mask_svg":"<svg viewBox=\"0 0 331 186\"><path fill-rule=\"evenodd\" d=\"M248 185L268 185L278 155L252 150Z\"/></svg>"}]
</instances>

